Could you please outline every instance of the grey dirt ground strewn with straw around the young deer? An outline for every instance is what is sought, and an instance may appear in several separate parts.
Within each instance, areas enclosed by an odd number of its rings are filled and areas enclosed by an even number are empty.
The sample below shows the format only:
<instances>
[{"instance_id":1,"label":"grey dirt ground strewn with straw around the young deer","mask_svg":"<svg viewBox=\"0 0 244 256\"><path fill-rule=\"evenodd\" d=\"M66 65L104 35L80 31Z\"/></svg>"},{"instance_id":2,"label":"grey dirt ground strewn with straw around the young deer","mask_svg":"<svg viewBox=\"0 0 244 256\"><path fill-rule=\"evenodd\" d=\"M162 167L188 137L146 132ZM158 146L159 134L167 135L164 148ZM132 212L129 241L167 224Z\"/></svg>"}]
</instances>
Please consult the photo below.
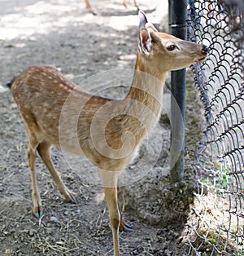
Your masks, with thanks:
<instances>
[{"instance_id":1,"label":"grey dirt ground strewn with straw around the young deer","mask_svg":"<svg viewBox=\"0 0 244 256\"><path fill-rule=\"evenodd\" d=\"M81 85L104 70L116 81L118 73L110 70L131 69L136 59L137 9L133 1L127 2L125 9L122 0L90 0L96 12L92 15L79 0L0 0L0 83L37 64L53 65ZM156 23L162 17L159 2L137 1ZM121 84L129 78L124 73L119 87L99 89L102 94L121 97L127 90ZM98 85L87 89L98 90ZM165 102L169 104L167 93ZM106 202L94 166L72 156L65 161L63 152L53 148L54 165L76 196L77 204L71 205L63 202L37 157L45 207L45 216L38 221L32 214L24 123L9 91L0 93L0 127L0 255L112 255ZM163 165L170 137L165 113L159 130L151 140L159 151L154 168L148 172L146 166L140 181L124 187L124 218L134 230L120 232L122 255L182 255L179 241L192 188L189 183L168 183L167 166Z\"/></svg>"}]
</instances>

